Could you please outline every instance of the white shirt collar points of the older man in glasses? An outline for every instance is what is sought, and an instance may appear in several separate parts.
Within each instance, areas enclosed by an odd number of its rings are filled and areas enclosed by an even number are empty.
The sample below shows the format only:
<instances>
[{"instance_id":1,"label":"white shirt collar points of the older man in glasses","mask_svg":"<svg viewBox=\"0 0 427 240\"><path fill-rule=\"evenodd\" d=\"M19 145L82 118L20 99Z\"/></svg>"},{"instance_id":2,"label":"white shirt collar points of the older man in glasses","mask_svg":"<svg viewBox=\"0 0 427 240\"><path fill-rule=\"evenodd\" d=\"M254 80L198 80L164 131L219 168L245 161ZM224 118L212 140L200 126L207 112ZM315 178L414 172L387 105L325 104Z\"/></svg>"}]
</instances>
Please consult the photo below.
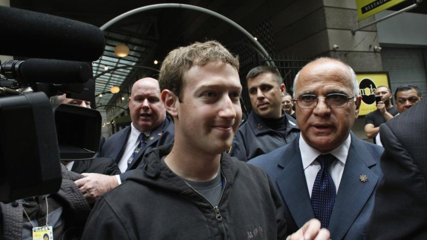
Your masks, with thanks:
<instances>
[{"instance_id":1,"label":"white shirt collar points of the older man in glasses","mask_svg":"<svg viewBox=\"0 0 427 240\"><path fill-rule=\"evenodd\" d=\"M336 158L338 158L338 160L341 163L345 165L345 161L347 160L347 155L348 155L348 149L350 149L351 143L352 143L352 138L349 133L345 141L340 146L338 146L331 152L327 152L327 153L331 153ZM302 166L304 169L306 169L310 164L313 163L313 161L315 161L316 157L318 157L322 153L314 149L312 146L309 146L305 142L304 138L302 137L302 134L300 134L299 145L300 145Z\"/></svg>"}]
</instances>

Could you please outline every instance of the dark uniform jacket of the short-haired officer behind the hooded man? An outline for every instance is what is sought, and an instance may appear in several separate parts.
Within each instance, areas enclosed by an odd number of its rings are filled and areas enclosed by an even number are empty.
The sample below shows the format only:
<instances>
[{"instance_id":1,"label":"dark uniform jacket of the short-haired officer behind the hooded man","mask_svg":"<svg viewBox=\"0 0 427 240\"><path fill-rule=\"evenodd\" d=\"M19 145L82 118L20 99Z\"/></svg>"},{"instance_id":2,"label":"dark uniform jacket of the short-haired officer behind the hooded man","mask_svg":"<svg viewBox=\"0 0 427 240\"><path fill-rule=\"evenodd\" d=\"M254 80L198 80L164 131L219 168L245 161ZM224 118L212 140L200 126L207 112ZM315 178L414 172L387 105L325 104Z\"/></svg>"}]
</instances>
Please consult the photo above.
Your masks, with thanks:
<instances>
[{"instance_id":1,"label":"dark uniform jacket of the short-haired officer behind the hooded man","mask_svg":"<svg viewBox=\"0 0 427 240\"><path fill-rule=\"evenodd\" d=\"M247 121L240 125L234 137L231 149L231 156L237 157L240 161L247 162L256 156L268 153L283 145L286 145L300 134L300 129L296 120L284 113L286 119L286 136L269 128L263 119L252 111Z\"/></svg>"}]
</instances>

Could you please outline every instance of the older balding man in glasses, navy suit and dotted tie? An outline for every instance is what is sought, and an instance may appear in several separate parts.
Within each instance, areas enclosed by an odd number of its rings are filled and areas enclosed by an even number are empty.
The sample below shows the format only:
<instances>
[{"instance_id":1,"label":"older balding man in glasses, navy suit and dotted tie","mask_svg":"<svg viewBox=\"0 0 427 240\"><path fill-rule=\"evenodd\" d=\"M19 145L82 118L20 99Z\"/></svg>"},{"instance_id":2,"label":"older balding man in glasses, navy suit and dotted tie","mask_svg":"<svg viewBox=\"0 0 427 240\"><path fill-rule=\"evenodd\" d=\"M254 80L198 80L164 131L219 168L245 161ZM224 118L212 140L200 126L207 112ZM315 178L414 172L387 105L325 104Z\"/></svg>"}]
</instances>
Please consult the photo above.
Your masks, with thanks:
<instances>
[{"instance_id":1,"label":"older balding man in glasses, navy suit and dotted tie","mask_svg":"<svg viewBox=\"0 0 427 240\"><path fill-rule=\"evenodd\" d=\"M382 148L351 132L361 101L356 75L338 59L318 58L297 74L294 94L300 137L249 163L279 190L288 233L315 217L332 239L360 239L382 177Z\"/></svg>"}]
</instances>

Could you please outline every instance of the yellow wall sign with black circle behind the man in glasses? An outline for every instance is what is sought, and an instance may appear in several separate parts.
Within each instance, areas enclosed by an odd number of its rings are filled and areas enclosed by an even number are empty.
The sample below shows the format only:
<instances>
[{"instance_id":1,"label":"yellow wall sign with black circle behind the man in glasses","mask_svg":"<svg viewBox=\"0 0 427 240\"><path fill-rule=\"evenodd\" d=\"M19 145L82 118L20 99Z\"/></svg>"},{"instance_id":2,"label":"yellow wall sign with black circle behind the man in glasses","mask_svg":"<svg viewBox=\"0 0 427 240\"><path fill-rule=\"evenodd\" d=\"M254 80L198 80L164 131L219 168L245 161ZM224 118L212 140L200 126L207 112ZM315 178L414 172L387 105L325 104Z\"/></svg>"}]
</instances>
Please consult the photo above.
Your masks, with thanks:
<instances>
[{"instance_id":1,"label":"yellow wall sign with black circle behind the man in glasses","mask_svg":"<svg viewBox=\"0 0 427 240\"><path fill-rule=\"evenodd\" d=\"M390 88L389 75L386 72L358 73L359 94L362 96L359 116L366 115L377 110L375 103L375 91L379 86Z\"/></svg>"}]
</instances>

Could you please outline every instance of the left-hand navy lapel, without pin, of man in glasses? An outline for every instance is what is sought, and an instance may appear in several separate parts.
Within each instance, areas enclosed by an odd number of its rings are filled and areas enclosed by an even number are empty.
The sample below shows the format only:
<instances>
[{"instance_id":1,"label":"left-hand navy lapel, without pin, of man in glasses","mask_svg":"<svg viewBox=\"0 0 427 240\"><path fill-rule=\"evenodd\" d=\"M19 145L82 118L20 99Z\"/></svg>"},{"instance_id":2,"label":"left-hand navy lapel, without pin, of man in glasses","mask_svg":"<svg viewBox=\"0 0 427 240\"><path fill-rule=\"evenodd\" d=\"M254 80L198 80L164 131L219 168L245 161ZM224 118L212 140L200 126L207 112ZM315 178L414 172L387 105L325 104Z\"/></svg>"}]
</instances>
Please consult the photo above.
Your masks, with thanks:
<instances>
[{"instance_id":1,"label":"left-hand navy lapel, without pin, of man in glasses","mask_svg":"<svg viewBox=\"0 0 427 240\"><path fill-rule=\"evenodd\" d=\"M297 137L283 152L278 165L283 168L276 178L280 194L294 217L298 228L314 218L312 203L302 166Z\"/></svg>"}]
</instances>

